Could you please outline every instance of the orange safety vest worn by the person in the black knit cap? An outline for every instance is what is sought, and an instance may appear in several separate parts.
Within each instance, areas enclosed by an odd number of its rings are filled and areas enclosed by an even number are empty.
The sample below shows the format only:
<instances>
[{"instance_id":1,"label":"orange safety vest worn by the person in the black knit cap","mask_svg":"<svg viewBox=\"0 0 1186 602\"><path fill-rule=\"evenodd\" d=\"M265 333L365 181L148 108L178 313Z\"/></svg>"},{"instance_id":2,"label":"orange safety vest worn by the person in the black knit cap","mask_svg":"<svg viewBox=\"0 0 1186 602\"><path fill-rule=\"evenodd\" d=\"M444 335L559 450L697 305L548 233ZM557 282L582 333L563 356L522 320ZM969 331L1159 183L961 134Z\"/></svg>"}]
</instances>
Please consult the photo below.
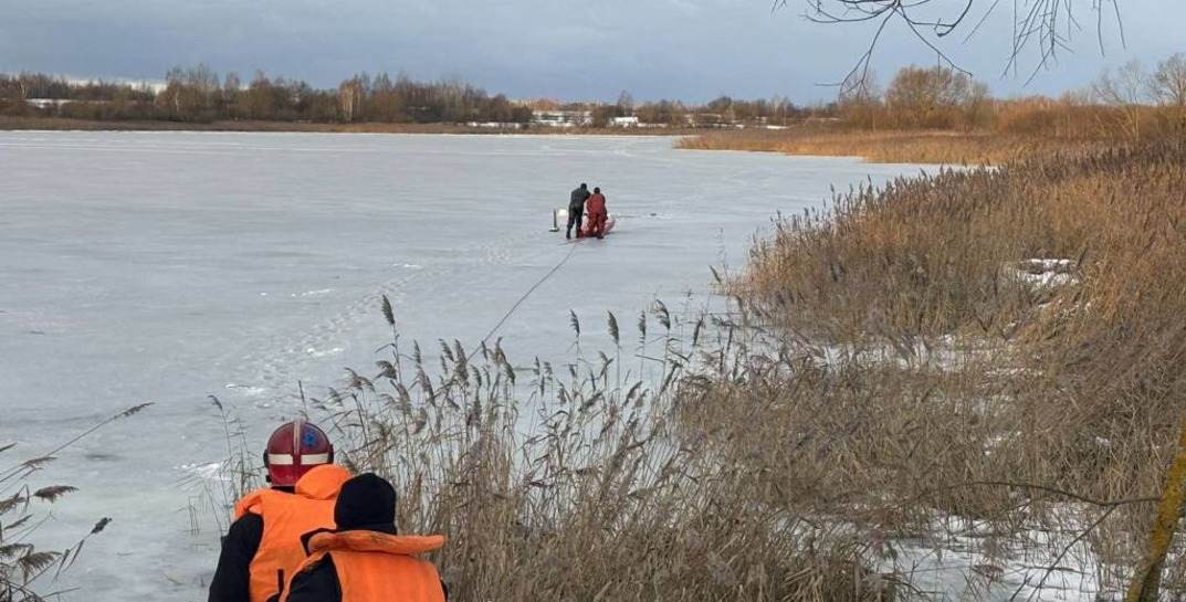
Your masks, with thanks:
<instances>
[{"instance_id":1,"label":"orange safety vest worn by the person in the black knit cap","mask_svg":"<svg viewBox=\"0 0 1186 602\"><path fill-rule=\"evenodd\" d=\"M445 602L436 566L414 556L442 545L444 536L389 536L376 531L318 533L310 539L311 556L299 571L312 569L330 555L342 585L342 602ZM285 588L281 602L288 601L291 589Z\"/></svg>"}]
</instances>

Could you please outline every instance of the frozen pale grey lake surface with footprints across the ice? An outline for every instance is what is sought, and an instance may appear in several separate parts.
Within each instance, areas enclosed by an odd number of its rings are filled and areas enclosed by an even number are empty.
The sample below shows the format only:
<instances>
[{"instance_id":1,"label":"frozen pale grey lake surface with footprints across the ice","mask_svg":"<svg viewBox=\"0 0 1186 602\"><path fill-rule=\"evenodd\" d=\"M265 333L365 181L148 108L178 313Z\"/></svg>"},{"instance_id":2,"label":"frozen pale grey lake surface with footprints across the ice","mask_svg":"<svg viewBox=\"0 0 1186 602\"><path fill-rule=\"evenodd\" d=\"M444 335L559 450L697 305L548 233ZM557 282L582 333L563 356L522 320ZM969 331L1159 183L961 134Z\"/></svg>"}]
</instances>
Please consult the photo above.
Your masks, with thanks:
<instances>
[{"instance_id":1,"label":"frozen pale grey lake surface with footprints across the ice","mask_svg":"<svg viewBox=\"0 0 1186 602\"><path fill-rule=\"evenodd\" d=\"M518 365L563 363L568 312L604 331L744 264L776 212L829 185L917 172L855 159L675 150L671 139L0 133L0 468L155 402L60 455L34 486L82 491L38 532L65 600L205 600L217 526L191 467L225 457L218 396L262 440L390 331L476 344L572 249L550 211L601 186L618 229L581 242L499 332ZM253 449L254 453L254 449ZM210 514L209 510L205 514ZM197 529L195 529L197 527Z\"/></svg>"}]
</instances>

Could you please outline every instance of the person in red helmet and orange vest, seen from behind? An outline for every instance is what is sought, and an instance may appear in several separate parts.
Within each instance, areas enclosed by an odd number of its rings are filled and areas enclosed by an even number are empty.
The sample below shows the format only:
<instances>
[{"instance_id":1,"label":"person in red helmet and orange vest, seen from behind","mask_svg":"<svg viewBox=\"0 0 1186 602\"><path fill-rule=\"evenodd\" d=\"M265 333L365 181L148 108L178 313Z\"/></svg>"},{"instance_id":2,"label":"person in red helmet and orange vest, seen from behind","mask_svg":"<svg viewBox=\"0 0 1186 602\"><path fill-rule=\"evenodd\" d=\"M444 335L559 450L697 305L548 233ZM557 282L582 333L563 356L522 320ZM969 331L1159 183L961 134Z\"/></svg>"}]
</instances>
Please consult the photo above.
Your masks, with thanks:
<instances>
[{"instance_id":1,"label":"person in red helmet and orange vest, seen from behind","mask_svg":"<svg viewBox=\"0 0 1186 602\"><path fill-rule=\"evenodd\" d=\"M295 420L268 438L263 453L269 488L235 504L223 538L210 602L268 602L305 559L300 537L333 527L333 505L350 479L333 465L333 444L315 424Z\"/></svg>"}]
</instances>

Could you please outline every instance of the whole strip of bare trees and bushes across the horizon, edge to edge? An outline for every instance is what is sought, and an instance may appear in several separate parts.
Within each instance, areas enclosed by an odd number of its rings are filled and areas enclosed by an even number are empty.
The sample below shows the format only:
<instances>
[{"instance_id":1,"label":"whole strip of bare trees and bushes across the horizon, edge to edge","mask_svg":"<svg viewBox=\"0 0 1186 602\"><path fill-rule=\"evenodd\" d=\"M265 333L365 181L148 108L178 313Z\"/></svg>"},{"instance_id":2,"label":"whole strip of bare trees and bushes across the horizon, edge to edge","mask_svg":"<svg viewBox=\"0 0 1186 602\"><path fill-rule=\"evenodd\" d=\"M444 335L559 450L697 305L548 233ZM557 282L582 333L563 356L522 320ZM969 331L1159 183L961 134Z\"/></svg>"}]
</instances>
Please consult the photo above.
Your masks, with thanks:
<instances>
[{"instance_id":1,"label":"whole strip of bare trees and bushes across the horizon, edge to edge","mask_svg":"<svg viewBox=\"0 0 1186 602\"><path fill-rule=\"evenodd\" d=\"M1166 111L1169 108L1173 110ZM0 75L0 115L96 121L269 121L299 123L505 123L523 126L533 111L587 111L582 126L616 117L661 127L788 126L810 117L861 129L963 129L1075 134L1115 129L1129 136L1166 124L1186 129L1186 55L1153 70L1129 63L1058 98L994 98L982 82L951 66L905 66L882 90L872 73L842 89L835 102L801 107L786 98L721 96L703 104L512 101L455 81L425 83L387 73L356 75L336 89L257 71L250 82L219 77L205 65L174 68L162 84L78 82L45 73ZM1166 120L1169 119L1169 123Z\"/></svg>"}]
</instances>

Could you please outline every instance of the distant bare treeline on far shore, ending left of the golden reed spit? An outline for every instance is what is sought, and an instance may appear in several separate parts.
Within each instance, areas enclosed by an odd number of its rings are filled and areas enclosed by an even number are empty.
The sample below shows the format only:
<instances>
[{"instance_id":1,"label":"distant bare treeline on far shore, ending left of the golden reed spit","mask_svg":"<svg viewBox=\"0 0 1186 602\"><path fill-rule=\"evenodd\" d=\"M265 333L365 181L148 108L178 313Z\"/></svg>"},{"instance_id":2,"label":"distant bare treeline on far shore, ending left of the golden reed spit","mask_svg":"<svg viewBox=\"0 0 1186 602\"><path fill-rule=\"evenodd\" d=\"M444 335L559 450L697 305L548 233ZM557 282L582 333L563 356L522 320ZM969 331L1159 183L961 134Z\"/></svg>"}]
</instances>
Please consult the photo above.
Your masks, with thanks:
<instances>
[{"instance_id":1,"label":"distant bare treeline on far shore, ending left of the golden reed spit","mask_svg":"<svg viewBox=\"0 0 1186 602\"><path fill-rule=\"evenodd\" d=\"M221 77L205 65L174 68L158 85L70 81L28 72L0 75L0 115L7 116L195 123L253 120L523 124L531 121L533 110L589 111L594 127L624 116L665 126L686 126L689 115L696 115L702 124L785 123L820 111L779 97L740 101L722 96L703 105L669 100L636 104L629 92L623 92L617 103L517 102L463 82L425 83L388 73L356 75L336 89L318 89L300 79L269 77L263 71L256 71L249 82L235 72Z\"/></svg>"}]
</instances>

